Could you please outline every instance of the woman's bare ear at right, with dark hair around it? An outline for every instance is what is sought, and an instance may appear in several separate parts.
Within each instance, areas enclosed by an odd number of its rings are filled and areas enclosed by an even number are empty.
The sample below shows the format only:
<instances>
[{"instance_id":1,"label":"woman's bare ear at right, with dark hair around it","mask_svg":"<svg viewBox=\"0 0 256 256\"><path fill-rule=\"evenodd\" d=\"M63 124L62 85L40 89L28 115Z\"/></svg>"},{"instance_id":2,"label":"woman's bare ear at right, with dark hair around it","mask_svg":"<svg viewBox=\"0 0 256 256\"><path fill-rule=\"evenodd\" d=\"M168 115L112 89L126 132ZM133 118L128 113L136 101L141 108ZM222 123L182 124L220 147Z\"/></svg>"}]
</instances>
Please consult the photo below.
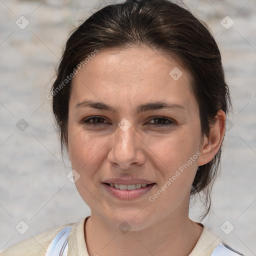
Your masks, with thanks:
<instances>
[{"instance_id":1,"label":"woman's bare ear at right, with dark hair around it","mask_svg":"<svg viewBox=\"0 0 256 256\"><path fill-rule=\"evenodd\" d=\"M210 127L209 136L204 135L201 144L201 155L198 157L198 166L211 161L217 153L225 134L226 115L224 111L218 110L216 122Z\"/></svg>"}]
</instances>

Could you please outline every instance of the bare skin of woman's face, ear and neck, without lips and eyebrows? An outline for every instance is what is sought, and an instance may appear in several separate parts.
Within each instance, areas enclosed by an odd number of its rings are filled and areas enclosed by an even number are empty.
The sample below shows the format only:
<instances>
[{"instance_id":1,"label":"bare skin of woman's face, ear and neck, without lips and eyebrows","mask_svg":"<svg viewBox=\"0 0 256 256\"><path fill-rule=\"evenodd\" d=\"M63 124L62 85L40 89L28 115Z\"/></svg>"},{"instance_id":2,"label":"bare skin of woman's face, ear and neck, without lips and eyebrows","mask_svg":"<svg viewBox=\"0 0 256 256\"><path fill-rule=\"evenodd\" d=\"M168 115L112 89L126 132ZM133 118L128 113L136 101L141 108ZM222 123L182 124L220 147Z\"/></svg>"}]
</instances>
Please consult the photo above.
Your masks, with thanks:
<instances>
[{"instance_id":1,"label":"bare skin of woman's face, ear and neck, without lips and eyebrows","mask_svg":"<svg viewBox=\"0 0 256 256\"><path fill-rule=\"evenodd\" d=\"M174 67L183 73L178 80L169 75ZM188 218L190 187L197 167L209 162L220 147L225 114L219 110L210 135L202 136L190 78L173 58L146 47L99 51L74 76L67 149L72 169L80 175L76 188L91 209L85 224L90 256L185 256L199 239L202 227ZM84 99L104 102L118 111L75 107ZM137 105L154 101L183 108L136 113ZM103 119L82 122L95 115ZM173 122L156 127L156 117ZM131 124L126 131L118 126L123 118ZM100 126L90 126L92 122ZM200 156L150 202L149 196L197 151ZM138 198L122 200L110 195L101 183L113 177L138 177L156 184ZM127 233L118 229L123 221L130 225Z\"/></svg>"}]
</instances>

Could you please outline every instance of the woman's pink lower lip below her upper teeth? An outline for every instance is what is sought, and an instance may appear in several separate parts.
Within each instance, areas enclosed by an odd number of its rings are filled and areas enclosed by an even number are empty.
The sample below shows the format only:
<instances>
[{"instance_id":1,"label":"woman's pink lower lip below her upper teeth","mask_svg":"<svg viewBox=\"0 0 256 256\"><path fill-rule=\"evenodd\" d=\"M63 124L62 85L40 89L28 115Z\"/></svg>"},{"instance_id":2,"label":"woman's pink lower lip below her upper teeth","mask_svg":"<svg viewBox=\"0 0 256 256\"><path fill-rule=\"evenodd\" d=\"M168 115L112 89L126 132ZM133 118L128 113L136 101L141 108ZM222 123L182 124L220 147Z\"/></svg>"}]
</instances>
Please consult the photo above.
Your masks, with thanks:
<instances>
[{"instance_id":1,"label":"woman's pink lower lip below her upper teeth","mask_svg":"<svg viewBox=\"0 0 256 256\"><path fill-rule=\"evenodd\" d=\"M119 198L119 199L134 199L142 194L145 194L148 192L154 185L155 183L152 183L150 185L140 187L134 190L122 190L122 189L117 189L114 186L107 185L105 183L102 183L104 188L113 196Z\"/></svg>"}]
</instances>

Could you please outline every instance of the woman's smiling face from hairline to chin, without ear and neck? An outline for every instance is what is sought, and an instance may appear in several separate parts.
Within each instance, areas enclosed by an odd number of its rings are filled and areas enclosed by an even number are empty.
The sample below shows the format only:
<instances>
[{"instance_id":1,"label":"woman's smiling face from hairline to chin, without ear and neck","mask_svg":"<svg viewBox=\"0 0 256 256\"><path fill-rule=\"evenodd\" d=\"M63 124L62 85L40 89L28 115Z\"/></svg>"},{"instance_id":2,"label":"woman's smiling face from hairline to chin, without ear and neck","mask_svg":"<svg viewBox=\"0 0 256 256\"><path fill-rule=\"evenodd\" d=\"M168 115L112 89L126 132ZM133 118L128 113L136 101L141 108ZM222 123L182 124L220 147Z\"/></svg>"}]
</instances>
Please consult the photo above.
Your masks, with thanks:
<instances>
[{"instance_id":1,"label":"woman's smiling face from hairline to chin, without ear and neck","mask_svg":"<svg viewBox=\"0 0 256 256\"><path fill-rule=\"evenodd\" d=\"M91 214L116 228L126 221L133 230L187 216L201 165L199 108L189 73L174 59L139 47L99 51L77 71L68 153ZM151 185L133 190L139 183Z\"/></svg>"}]
</instances>

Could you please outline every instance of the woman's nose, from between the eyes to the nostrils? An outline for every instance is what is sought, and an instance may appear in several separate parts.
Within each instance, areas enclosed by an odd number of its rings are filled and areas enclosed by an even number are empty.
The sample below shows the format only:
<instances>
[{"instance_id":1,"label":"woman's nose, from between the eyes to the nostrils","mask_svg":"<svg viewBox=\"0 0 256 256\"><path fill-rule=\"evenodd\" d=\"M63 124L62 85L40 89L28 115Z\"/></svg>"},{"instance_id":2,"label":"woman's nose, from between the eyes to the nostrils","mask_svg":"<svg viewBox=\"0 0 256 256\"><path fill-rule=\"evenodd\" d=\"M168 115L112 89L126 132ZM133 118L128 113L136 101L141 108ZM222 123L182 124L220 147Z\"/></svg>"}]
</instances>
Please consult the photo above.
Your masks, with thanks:
<instances>
[{"instance_id":1,"label":"woman's nose, from between the eyes to the nostrils","mask_svg":"<svg viewBox=\"0 0 256 256\"><path fill-rule=\"evenodd\" d=\"M134 125L131 125L128 129L120 127L116 128L116 133L111 139L111 150L107 159L111 165L127 170L143 164L145 155L143 153L143 143Z\"/></svg>"}]
</instances>

